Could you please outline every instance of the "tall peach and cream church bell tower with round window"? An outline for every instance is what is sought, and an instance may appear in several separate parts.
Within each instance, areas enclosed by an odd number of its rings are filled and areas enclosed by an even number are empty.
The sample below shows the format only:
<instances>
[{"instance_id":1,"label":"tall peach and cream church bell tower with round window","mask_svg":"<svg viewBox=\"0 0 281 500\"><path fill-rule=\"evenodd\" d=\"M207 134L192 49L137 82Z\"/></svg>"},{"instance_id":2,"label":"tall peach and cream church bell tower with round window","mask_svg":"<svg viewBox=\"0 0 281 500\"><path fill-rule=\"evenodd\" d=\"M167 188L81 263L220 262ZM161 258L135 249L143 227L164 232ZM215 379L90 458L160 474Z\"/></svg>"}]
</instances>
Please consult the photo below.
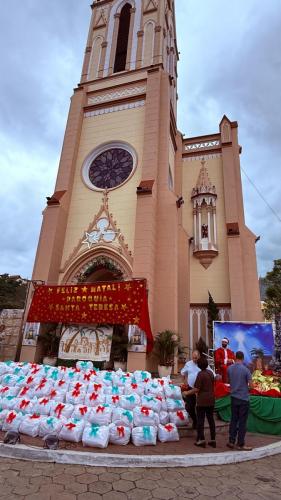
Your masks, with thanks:
<instances>
[{"instance_id":1,"label":"tall peach and cream church bell tower with round window","mask_svg":"<svg viewBox=\"0 0 281 500\"><path fill-rule=\"evenodd\" d=\"M108 259L123 279L147 279L152 331L180 331L187 323L188 238L177 206L174 0L95 0L91 8L33 279L75 282ZM145 353L129 353L129 369L146 363Z\"/></svg>"}]
</instances>

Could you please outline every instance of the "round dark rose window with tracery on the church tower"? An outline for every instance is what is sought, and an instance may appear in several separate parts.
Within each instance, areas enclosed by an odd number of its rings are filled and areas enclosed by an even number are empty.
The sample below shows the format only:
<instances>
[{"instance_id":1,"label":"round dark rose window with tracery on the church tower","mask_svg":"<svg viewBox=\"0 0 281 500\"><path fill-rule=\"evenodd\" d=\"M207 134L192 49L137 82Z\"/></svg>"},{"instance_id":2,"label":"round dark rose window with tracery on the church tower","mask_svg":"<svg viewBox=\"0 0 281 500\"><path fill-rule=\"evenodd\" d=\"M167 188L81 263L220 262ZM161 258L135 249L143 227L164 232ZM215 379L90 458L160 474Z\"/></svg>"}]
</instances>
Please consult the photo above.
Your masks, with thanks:
<instances>
[{"instance_id":1,"label":"round dark rose window with tracery on the church tower","mask_svg":"<svg viewBox=\"0 0 281 500\"><path fill-rule=\"evenodd\" d=\"M89 181L97 189L114 189L130 177L134 159L121 147L110 148L96 156L89 167Z\"/></svg>"}]
</instances>

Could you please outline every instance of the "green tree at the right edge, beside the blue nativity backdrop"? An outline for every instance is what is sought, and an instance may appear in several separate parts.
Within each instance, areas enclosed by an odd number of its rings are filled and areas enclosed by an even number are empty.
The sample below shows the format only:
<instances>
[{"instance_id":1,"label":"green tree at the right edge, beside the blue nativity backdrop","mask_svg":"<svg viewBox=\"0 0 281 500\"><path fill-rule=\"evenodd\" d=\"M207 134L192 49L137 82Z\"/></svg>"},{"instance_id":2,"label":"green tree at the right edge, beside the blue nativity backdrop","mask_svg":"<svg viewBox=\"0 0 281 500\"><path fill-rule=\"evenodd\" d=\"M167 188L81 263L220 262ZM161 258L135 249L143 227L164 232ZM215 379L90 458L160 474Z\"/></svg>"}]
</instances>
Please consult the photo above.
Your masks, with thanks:
<instances>
[{"instance_id":1,"label":"green tree at the right edge, beside the blue nativity backdrop","mask_svg":"<svg viewBox=\"0 0 281 500\"><path fill-rule=\"evenodd\" d=\"M274 369L281 371L281 259L274 260L272 271L265 277L265 317L275 321Z\"/></svg>"}]
</instances>

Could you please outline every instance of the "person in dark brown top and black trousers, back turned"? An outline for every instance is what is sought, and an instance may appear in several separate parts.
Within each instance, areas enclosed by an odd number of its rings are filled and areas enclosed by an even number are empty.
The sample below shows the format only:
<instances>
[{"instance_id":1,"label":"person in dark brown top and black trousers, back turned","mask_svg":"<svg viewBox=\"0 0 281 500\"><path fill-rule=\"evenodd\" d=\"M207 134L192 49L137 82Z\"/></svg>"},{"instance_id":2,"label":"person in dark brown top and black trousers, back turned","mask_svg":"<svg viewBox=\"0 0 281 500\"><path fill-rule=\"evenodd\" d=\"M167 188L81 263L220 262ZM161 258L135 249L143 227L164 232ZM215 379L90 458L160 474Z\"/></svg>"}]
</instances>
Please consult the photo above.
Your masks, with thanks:
<instances>
[{"instance_id":1,"label":"person in dark brown top and black trousers, back turned","mask_svg":"<svg viewBox=\"0 0 281 500\"><path fill-rule=\"evenodd\" d=\"M211 440L209 446L216 448L216 425L214 420L215 407L215 377L213 372L208 369L206 357L198 359L197 366L199 373L196 377L194 388L185 393L186 396L196 396L196 414L197 414L197 440L195 446L206 447L204 424L207 417Z\"/></svg>"}]
</instances>

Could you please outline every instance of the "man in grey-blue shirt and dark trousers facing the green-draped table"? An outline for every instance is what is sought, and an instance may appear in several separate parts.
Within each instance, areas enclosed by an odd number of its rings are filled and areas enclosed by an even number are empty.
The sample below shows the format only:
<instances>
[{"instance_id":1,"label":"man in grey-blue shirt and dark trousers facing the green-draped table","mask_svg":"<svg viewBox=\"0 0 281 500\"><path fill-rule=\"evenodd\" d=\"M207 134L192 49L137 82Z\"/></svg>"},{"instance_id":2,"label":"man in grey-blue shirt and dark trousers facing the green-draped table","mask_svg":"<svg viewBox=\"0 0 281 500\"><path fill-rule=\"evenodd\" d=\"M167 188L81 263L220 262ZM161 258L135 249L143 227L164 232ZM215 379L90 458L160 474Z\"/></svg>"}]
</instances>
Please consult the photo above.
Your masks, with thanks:
<instances>
[{"instance_id":1,"label":"man in grey-blue shirt and dark trousers facing the green-draped table","mask_svg":"<svg viewBox=\"0 0 281 500\"><path fill-rule=\"evenodd\" d=\"M244 353L237 351L235 364L228 367L228 380L231 396L231 421L229 425L228 448L233 449L237 440L237 448L242 451L251 451L245 445L247 419L249 414L249 386L251 386L251 372L244 365Z\"/></svg>"}]
</instances>

